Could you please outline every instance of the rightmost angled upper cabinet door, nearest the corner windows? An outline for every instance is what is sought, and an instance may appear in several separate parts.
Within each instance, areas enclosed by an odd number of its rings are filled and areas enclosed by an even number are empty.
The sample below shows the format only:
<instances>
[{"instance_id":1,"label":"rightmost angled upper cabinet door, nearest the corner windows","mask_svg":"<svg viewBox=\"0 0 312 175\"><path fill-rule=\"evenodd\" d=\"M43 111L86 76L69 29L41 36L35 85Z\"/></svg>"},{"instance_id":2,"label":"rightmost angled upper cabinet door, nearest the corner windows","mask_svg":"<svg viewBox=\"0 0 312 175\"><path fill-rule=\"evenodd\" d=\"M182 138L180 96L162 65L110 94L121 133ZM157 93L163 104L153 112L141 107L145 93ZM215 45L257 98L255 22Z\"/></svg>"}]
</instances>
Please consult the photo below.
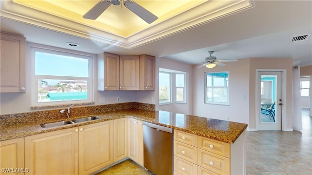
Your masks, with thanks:
<instances>
[{"instance_id":1,"label":"rightmost angled upper cabinet door, nearest the corner windows","mask_svg":"<svg viewBox=\"0 0 312 175\"><path fill-rule=\"evenodd\" d=\"M155 57L140 55L140 90L155 90Z\"/></svg>"}]
</instances>

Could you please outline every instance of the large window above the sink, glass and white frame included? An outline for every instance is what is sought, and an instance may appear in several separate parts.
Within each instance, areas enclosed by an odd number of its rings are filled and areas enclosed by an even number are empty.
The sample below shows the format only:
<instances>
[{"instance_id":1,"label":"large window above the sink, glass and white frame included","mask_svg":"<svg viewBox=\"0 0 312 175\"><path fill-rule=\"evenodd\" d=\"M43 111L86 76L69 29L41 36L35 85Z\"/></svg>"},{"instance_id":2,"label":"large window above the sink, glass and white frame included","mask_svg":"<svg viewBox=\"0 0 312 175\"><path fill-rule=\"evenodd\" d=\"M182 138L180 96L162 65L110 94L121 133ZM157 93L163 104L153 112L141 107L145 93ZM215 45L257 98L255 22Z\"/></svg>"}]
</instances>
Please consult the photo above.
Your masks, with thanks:
<instances>
[{"instance_id":1,"label":"large window above the sink, glass and white frame included","mask_svg":"<svg viewBox=\"0 0 312 175\"><path fill-rule=\"evenodd\" d=\"M91 54L31 47L32 105L93 102Z\"/></svg>"}]
</instances>

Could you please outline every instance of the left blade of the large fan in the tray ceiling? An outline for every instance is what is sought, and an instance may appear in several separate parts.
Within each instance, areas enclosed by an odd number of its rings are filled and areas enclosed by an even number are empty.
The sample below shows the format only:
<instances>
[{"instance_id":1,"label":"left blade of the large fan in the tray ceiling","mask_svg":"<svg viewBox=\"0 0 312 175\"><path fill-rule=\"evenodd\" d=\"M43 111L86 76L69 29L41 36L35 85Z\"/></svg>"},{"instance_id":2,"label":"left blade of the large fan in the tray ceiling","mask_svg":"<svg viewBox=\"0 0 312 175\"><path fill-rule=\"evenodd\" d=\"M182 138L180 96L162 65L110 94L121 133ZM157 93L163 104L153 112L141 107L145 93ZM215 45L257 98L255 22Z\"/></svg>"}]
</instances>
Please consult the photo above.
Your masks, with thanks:
<instances>
[{"instance_id":1,"label":"left blade of the large fan in the tray ceiling","mask_svg":"<svg viewBox=\"0 0 312 175\"><path fill-rule=\"evenodd\" d=\"M82 17L85 19L97 19L110 5L111 2L109 0L100 0Z\"/></svg>"}]
</instances>

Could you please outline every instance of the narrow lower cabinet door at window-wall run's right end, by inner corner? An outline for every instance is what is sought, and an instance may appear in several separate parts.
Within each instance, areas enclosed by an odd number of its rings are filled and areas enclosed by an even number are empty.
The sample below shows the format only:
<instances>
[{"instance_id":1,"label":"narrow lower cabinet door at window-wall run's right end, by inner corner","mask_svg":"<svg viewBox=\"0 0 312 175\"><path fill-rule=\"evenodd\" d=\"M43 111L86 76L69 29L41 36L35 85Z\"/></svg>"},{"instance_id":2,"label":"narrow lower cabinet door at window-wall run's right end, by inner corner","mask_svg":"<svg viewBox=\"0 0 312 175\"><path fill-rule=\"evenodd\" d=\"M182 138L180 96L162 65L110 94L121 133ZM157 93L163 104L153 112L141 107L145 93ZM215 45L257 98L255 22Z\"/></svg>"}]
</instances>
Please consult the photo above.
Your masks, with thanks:
<instances>
[{"instance_id":1,"label":"narrow lower cabinet door at window-wall run's right end, by inner corner","mask_svg":"<svg viewBox=\"0 0 312 175\"><path fill-rule=\"evenodd\" d=\"M114 162L128 157L128 118L114 120Z\"/></svg>"}]
</instances>

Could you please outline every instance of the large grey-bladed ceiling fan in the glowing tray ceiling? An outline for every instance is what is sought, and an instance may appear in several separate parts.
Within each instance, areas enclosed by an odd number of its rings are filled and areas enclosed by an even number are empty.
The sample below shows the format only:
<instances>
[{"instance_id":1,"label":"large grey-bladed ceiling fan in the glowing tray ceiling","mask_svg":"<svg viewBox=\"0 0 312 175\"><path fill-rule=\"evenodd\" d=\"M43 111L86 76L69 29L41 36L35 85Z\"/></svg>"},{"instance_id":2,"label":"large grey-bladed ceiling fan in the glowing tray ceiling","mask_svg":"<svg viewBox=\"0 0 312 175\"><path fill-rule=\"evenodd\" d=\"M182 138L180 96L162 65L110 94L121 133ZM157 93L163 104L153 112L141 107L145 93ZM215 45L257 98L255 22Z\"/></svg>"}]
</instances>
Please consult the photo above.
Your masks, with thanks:
<instances>
[{"instance_id":1,"label":"large grey-bladed ceiling fan in the glowing tray ceiling","mask_svg":"<svg viewBox=\"0 0 312 175\"><path fill-rule=\"evenodd\" d=\"M97 19L111 4L119 5L120 1L123 1L123 5L127 7L130 11L135 13L138 17L142 18L147 23L152 23L158 17L154 14L134 2L133 0L100 0L95 6L93 6L83 18L86 19Z\"/></svg>"}]
</instances>

